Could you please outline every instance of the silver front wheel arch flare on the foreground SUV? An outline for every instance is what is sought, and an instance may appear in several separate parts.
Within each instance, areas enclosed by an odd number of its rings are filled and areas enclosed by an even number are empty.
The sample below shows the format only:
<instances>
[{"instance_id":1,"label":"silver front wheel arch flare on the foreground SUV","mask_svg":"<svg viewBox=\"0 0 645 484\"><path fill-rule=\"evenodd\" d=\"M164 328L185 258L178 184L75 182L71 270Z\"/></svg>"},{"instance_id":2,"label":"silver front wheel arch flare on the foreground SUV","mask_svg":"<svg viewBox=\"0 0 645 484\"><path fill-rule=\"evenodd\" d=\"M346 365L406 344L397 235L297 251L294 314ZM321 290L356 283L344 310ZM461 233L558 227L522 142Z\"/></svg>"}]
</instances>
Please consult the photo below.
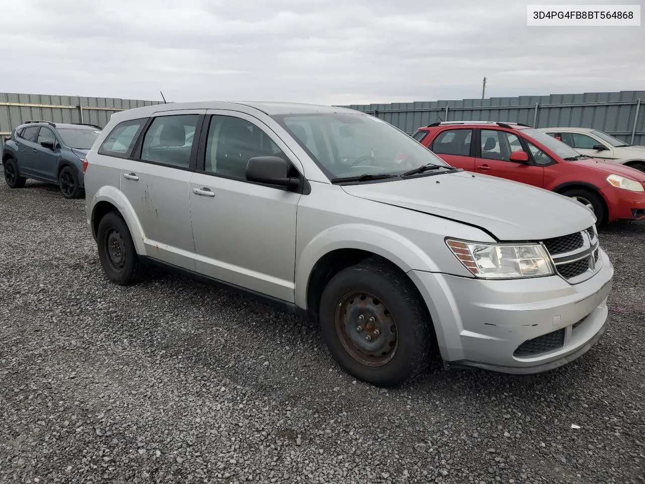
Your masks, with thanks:
<instances>
[{"instance_id":1,"label":"silver front wheel arch flare on the foreground SUV","mask_svg":"<svg viewBox=\"0 0 645 484\"><path fill-rule=\"evenodd\" d=\"M295 303L307 307L307 287L313 267L326 254L339 249L372 252L404 272L421 270L439 272L434 261L406 237L387 228L362 223L348 223L323 230L302 249L295 268Z\"/></svg>"}]
</instances>

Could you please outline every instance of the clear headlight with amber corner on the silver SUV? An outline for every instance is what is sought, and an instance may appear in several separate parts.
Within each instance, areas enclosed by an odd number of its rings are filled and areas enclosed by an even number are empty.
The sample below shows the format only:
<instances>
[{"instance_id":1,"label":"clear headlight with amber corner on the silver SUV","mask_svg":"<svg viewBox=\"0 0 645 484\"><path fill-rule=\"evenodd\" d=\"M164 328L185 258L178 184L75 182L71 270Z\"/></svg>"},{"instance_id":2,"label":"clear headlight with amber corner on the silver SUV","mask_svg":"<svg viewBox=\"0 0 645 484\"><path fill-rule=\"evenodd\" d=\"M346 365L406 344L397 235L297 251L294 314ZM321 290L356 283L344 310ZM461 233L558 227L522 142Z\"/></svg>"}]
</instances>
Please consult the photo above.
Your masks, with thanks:
<instances>
[{"instance_id":1,"label":"clear headlight with amber corner on the silver SUV","mask_svg":"<svg viewBox=\"0 0 645 484\"><path fill-rule=\"evenodd\" d=\"M482 279L539 277L555 274L551 257L539 244L479 244L446 240L455 257Z\"/></svg>"}]
</instances>

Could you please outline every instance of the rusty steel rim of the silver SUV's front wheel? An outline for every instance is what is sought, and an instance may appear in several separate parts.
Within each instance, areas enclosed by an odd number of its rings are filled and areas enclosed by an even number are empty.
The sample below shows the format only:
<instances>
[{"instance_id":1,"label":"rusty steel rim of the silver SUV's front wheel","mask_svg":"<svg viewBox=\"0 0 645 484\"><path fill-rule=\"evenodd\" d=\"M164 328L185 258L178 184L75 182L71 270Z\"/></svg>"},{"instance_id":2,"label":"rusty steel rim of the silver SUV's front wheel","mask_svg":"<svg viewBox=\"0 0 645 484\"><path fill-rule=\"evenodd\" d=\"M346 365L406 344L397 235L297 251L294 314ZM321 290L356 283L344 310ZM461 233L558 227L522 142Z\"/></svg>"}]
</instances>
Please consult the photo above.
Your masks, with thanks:
<instances>
[{"instance_id":1,"label":"rusty steel rim of the silver SUV's front wheel","mask_svg":"<svg viewBox=\"0 0 645 484\"><path fill-rule=\"evenodd\" d=\"M342 346L368 367L386 365L397 352L397 325L388 308L368 292L341 297L335 311L336 333Z\"/></svg>"}]
</instances>

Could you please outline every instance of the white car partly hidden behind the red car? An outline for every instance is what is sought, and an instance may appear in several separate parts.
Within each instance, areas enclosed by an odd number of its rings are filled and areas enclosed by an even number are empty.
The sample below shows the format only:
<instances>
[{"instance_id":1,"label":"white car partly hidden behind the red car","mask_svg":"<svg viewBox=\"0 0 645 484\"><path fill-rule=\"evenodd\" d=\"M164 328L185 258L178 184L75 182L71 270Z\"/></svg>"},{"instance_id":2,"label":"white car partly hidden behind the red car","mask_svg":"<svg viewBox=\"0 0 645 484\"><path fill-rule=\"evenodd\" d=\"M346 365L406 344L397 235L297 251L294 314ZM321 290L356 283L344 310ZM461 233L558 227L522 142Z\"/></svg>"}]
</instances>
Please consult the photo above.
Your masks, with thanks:
<instances>
[{"instance_id":1,"label":"white car partly hidden behind the red car","mask_svg":"<svg viewBox=\"0 0 645 484\"><path fill-rule=\"evenodd\" d=\"M645 172L645 146L631 146L591 128L541 128L540 131L559 139L583 155L632 166Z\"/></svg>"}]
</instances>

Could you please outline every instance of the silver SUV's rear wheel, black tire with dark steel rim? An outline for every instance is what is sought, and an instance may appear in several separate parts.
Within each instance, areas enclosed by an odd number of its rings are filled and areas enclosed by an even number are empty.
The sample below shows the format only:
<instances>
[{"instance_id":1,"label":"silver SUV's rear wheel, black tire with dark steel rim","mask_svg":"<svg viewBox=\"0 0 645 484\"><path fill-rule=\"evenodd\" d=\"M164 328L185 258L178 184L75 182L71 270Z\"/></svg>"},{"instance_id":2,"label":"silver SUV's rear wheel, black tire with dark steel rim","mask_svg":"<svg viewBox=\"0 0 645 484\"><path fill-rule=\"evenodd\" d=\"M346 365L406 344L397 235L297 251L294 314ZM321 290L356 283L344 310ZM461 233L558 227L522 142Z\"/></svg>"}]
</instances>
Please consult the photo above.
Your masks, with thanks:
<instances>
[{"instance_id":1,"label":"silver SUV's rear wheel, black tire with dark steel rim","mask_svg":"<svg viewBox=\"0 0 645 484\"><path fill-rule=\"evenodd\" d=\"M101 266L110 281L128 286L141 280L144 267L134 248L130 230L120 214L110 212L103 216L96 241Z\"/></svg>"}]
</instances>

